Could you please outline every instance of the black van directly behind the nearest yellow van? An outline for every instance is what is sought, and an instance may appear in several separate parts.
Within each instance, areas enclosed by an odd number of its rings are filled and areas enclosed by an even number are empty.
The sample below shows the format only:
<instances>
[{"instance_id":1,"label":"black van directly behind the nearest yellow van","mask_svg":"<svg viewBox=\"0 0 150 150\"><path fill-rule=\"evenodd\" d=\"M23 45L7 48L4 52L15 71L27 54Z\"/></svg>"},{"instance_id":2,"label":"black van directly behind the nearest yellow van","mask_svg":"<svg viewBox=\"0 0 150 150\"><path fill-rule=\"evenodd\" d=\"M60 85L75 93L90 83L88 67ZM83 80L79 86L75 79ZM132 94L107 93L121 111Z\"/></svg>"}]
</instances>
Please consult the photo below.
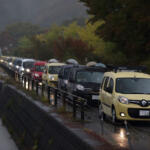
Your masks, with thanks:
<instances>
[{"instance_id":1,"label":"black van directly behind the nearest yellow van","mask_svg":"<svg viewBox=\"0 0 150 150\"><path fill-rule=\"evenodd\" d=\"M88 105L99 104L99 89L102 83L105 68L82 67L72 68L69 73L67 91L83 97Z\"/></svg>"}]
</instances>

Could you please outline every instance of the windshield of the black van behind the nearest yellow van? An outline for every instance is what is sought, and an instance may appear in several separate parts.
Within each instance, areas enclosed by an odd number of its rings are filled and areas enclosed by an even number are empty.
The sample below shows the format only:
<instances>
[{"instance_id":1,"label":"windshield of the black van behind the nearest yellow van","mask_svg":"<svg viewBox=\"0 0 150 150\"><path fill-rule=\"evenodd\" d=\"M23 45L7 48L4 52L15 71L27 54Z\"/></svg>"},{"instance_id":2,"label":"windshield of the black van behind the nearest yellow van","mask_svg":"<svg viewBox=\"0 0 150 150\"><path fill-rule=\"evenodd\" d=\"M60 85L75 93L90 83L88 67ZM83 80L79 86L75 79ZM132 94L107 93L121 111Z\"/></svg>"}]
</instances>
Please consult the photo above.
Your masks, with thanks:
<instances>
[{"instance_id":1,"label":"windshield of the black van behind the nearest yellow van","mask_svg":"<svg viewBox=\"0 0 150 150\"><path fill-rule=\"evenodd\" d=\"M103 79L103 72L98 71L79 71L77 72L77 82L90 82L100 84Z\"/></svg>"}]
</instances>

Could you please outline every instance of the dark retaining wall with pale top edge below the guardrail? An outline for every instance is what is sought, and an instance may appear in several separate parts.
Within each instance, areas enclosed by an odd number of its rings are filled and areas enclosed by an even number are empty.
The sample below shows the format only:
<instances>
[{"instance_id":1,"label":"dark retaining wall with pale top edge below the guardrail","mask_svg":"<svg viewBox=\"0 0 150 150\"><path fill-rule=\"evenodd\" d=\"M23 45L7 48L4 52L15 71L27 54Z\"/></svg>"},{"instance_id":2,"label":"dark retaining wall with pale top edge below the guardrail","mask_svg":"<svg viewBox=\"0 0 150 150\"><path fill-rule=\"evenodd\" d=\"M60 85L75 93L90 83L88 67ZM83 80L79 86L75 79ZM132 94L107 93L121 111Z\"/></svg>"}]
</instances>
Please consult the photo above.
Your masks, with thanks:
<instances>
[{"instance_id":1,"label":"dark retaining wall with pale top edge below the guardrail","mask_svg":"<svg viewBox=\"0 0 150 150\"><path fill-rule=\"evenodd\" d=\"M93 150L103 145L81 129L69 128L48 107L0 82L0 115L21 148L28 150Z\"/></svg>"}]
</instances>

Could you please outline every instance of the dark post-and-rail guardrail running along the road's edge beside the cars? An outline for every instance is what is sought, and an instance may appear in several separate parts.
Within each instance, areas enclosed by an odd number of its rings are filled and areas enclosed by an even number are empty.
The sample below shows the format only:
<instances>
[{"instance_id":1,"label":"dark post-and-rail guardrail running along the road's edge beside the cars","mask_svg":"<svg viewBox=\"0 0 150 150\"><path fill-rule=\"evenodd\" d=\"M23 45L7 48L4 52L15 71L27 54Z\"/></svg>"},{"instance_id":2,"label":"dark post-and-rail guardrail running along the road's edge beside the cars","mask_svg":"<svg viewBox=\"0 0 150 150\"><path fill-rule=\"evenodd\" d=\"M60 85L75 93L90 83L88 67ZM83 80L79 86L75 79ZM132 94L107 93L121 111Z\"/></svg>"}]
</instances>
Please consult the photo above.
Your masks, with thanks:
<instances>
[{"instance_id":1,"label":"dark post-and-rail guardrail running along the road's edge beside the cars","mask_svg":"<svg viewBox=\"0 0 150 150\"><path fill-rule=\"evenodd\" d=\"M72 106L72 117L74 119L77 118L77 111L80 111L80 119L83 121L85 119L85 102L86 100L82 97L79 97L77 95L73 95L71 93L68 93L66 91L63 91L61 89L58 89L56 87L52 87L49 85L39 85L38 80L34 80L29 76L21 76L17 72L10 70L5 65L1 64L1 67L3 67L6 72L13 78L15 81L18 81L21 83L22 87L25 87L26 90L32 90L36 92L37 96L45 96L44 93L47 95L47 99L49 100L49 103L55 107L58 106L58 101L62 102L63 107L66 109L66 104ZM28 83L28 84L27 84ZM41 90L41 95L39 91ZM51 99L51 95L53 95L53 100ZM68 97L72 97L72 99L69 99Z\"/></svg>"}]
</instances>

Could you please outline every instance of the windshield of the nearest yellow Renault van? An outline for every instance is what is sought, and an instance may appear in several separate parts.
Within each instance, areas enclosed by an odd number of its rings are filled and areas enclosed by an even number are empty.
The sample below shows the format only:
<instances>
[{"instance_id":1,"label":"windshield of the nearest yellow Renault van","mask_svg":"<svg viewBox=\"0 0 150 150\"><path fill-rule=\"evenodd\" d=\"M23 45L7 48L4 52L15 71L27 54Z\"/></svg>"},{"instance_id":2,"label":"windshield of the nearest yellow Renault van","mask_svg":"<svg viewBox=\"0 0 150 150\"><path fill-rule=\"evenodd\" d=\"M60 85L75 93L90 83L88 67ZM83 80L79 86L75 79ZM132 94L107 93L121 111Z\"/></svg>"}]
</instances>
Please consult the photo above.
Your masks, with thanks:
<instances>
[{"instance_id":1,"label":"windshield of the nearest yellow Renault van","mask_svg":"<svg viewBox=\"0 0 150 150\"><path fill-rule=\"evenodd\" d=\"M150 79L118 78L116 92L123 94L150 94Z\"/></svg>"}]
</instances>

